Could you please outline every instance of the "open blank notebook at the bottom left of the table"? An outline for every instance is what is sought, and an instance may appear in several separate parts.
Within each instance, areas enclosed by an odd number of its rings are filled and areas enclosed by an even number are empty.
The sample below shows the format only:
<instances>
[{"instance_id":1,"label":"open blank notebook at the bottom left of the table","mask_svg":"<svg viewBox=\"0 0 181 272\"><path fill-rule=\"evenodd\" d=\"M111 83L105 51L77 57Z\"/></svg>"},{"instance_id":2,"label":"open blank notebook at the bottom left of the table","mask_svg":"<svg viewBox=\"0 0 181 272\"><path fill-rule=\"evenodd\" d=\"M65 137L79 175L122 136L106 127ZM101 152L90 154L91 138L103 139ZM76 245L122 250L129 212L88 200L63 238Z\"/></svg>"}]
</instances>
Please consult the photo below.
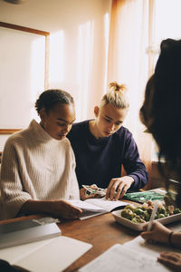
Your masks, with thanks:
<instances>
[{"instance_id":1,"label":"open blank notebook at the bottom left of the table","mask_svg":"<svg viewBox=\"0 0 181 272\"><path fill-rule=\"evenodd\" d=\"M0 249L0 258L11 265L33 272L60 272L69 267L92 246L77 239L60 236L22 246Z\"/></svg>"}]
</instances>

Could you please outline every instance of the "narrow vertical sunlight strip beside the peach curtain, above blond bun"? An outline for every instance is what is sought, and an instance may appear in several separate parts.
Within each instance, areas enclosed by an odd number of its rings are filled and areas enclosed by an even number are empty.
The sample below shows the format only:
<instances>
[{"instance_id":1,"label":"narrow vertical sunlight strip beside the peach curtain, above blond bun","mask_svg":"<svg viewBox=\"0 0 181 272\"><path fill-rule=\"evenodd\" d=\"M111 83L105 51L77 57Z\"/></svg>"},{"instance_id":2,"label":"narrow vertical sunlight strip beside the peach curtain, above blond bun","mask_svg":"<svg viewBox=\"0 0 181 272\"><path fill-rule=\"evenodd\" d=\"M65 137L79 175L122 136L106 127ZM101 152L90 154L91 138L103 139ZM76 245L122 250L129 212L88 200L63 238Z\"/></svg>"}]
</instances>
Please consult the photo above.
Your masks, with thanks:
<instances>
[{"instance_id":1,"label":"narrow vertical sunlight strip beside the peach curtain, above blond bun","mask_svg":"<svg viewBox=\"0 0 181 272\"><path fill-rule=\"evenodd\" d=\"M104 43L105 43L105 73L104 73L104 90L103 94L108 92L108 52L109 52L109 36L110 36L110 14L104 15Z\"/></svg>"}]
</instances>

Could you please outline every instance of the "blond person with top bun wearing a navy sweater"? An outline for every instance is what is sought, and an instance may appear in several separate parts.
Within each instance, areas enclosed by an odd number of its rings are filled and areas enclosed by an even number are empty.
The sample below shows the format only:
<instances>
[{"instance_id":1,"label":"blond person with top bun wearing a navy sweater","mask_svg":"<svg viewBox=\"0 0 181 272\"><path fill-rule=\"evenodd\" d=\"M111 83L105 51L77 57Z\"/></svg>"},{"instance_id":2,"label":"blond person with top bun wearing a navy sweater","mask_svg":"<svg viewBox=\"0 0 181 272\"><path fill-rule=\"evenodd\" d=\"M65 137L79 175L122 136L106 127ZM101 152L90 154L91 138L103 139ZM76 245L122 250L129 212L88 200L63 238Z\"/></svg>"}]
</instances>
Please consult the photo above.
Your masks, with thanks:
<instances>
[{"instance_id":1,"label":"blond person with top bun wearing a navy sweater","mask_svg":"<svg viewBox=\"0 0 181 272\"><path fill-rule=\"evenodd\" d=\"M118 200L128 189L145 186L148 172L132 134L122 126L129 111L126 87L110 83L110 88L94 108L95 119L73 124L67 137L75 154L80 189L83 184L95 183L107 188L107 199ZM124 177L122 165L127 172ZM85 189L81 189L81 199L86 198Z\"/></svg>"}]
</instances>

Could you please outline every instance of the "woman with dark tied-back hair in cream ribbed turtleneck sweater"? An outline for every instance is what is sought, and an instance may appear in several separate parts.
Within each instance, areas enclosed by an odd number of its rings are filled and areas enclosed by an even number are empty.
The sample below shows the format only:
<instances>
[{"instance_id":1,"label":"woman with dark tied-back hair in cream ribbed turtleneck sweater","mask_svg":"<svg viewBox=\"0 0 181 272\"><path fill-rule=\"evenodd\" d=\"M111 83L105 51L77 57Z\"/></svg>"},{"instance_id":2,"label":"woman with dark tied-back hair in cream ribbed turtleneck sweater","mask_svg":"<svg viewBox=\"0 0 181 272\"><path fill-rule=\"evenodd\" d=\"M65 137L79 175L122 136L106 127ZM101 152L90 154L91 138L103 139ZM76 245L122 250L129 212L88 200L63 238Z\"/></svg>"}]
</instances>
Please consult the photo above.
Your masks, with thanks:
<instances>
[{"instance_id":1,"label":"woman with dark tied-back hair in cream ribbed turtleneck sweater","mask_svg":"<svg viewBox=\"0 0 181 272\"><path fill-rule=\"evenodd\" d=\"M5 143L1 166L1 219L47 213L76 218L80 209L64 199L79 199L75 160L66 138L75 120L68 92L48 90L35 103L41 122L14 133Z\"/></svg>"}]
</instances>

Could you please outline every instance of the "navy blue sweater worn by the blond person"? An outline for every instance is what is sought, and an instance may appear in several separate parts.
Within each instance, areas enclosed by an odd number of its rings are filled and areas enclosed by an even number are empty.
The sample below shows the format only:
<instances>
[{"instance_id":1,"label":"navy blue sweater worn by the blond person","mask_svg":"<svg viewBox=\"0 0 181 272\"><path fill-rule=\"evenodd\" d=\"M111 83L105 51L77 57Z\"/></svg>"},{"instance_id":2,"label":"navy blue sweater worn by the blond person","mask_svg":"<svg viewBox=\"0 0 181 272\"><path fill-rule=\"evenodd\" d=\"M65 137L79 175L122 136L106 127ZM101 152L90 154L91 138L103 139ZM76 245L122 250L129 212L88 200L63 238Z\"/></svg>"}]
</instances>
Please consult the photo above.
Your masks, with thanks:
<instances>
[{"instance_id":1,"label":"navy blue sweater worn by the blond person","mask_svg":"<svg viewBox=\"0 0 181 272\"><path fill-rule=\"evenodd\" d=\"M89 121L81 121L72 125L67 138L75 154L80 188L82 184L93 183L107 188L112 178L121 176L121 165L135 180L130 189L140 189L147 184L148 172L139 159L132 134L125 127L98 140L90 133Z\"/></svg>"}]
</instances>

